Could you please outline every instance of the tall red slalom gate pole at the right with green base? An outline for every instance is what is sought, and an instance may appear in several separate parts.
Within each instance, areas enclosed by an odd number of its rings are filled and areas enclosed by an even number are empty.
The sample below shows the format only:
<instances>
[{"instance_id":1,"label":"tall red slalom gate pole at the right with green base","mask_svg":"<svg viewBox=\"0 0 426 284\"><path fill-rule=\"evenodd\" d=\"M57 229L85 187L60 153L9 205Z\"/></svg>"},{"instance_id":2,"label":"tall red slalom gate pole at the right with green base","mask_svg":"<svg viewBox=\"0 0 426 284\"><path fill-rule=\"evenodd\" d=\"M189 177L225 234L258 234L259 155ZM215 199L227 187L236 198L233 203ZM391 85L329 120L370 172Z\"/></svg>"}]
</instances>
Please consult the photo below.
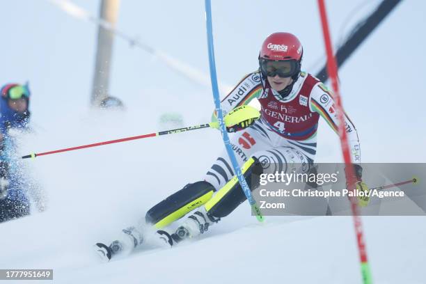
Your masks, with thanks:
<instances>
[{"instance_id":1,"label":"tall red slalom gate pole at the right with green base","mask_svg":"<svg viewBox=\"0 0 426 284\"><path fill-rule=\"evenodd\" d=\"M338 86L338 72L336 58L333 55L333 47L331 46L331 37L329 32L329 24L326 16L326 8L324 0L317 0L319 6L319 15L321 17L322 32L324 36L324 43L326 47L327 54L327 72L329 72L329 77L331 79L331 85L334 91L334 97L337 105L337 114L338 114L338 132L340 137L340 144L342 146L342 154L346 164L346 178L347 184L349 184L349 189L355 189L355 180L354 180L354 168L352 166L351 155L349 152L349 143L347 141L347 134L345 131L345 120L343 118L343 107L342 100L340 97L339 86ZM359 216L358 202L355 197L350 197L349 201L351 203L352 216L354 219L354 226L356 232L356 242L358 244L359 257L361 260L361 274L363 277L364 284L372 283L372 274L370 270L370 265L367 259L367 251L365 249L365 241L363 234L363 226L361 222L361 216Z\"/></svg>"}]
</instances>

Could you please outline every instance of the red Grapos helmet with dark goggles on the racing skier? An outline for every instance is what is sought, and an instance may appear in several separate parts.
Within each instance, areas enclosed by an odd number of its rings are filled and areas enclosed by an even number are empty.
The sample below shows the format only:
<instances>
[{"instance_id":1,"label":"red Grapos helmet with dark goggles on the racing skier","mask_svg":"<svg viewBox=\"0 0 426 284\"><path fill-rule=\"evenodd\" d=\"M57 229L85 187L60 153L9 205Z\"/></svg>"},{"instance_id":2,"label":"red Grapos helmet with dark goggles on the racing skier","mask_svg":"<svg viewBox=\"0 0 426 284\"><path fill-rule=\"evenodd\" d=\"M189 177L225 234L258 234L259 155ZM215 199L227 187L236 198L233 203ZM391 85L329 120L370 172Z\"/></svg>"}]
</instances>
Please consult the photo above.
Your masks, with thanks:
<instances>
[{"instance_id":1,"label":"red Grapos helmet with dark goggles on the racing skier","mask_svg":"<svg viewBox=\"0 0 426 284\"><path fill-rule=\"evenodd\" d=\"M260 72L264 77L292 77L300 74L303 47L292 33L272 33L262 44L259 54Z\"/></svg>"}]
</instances>

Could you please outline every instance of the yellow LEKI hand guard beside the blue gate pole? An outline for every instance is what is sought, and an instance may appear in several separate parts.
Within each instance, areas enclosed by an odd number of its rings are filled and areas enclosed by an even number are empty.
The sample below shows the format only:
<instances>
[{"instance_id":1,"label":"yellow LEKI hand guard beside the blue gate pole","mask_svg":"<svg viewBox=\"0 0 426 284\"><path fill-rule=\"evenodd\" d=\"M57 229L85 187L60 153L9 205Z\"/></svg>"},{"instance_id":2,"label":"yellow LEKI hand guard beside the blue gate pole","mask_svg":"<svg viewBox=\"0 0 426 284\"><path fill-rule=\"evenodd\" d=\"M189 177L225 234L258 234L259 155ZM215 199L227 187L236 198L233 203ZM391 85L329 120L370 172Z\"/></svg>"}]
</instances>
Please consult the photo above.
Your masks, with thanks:
<instances>
[{"instance_id":1,"label":"yellow LEKI hand guard beside the blue gate pole","mask_svg":"<svg viewBox=\"0 0 426 284\"><path fill-rule=\"evenodd\" d=\"M237 132L253 125L255 120L258 120L259 118L260 112L257 109L244 105L233 109L230 113L227 113L223 120L228 132ZM213 113L212 123L210 123L210 126L219 128L216 111Z\"/></svg>"}]
</instances>

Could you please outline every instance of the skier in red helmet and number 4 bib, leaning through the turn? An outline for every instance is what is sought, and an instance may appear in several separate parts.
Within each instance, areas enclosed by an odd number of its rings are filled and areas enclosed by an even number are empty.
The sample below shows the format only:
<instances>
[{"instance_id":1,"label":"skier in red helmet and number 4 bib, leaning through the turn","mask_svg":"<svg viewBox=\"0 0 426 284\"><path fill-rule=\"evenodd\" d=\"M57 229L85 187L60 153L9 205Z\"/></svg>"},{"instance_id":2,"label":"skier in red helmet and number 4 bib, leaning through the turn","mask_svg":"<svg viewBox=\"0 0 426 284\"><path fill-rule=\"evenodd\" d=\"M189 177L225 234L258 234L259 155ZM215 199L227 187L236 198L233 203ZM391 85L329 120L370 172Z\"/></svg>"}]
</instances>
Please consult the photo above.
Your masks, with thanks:
<instances>
[{"instance_id":1,"label":"skier in red helmet and number 4 bib, leaning through the turn","mask_svg":"<svg viewBox=\"0 0 426 284\"><path fill-rule=\"evenodd\" d=\"M321 81L301 71L302 57L303 47L296 36L271 34L260 49L259 70L246 75L221 102L228 132L238 132L232 138L232 150L252 191L258 186L255 180L261 173L310 172L320 116L338 132L333 97ZM260 102L260 117L253 115L253 109L246 106L253 98ZM368 190L361 181L358 135L347 116L345 127L354 161L356 187ZM173 246L182 239L203 234L244 200L246 196L224 151L201 181L187 184L152 207L145 221L158 229L157 235L166 244ZM368 200L363 202L368 203ZM189 216L174 232L164 229L187 214ZM130 227L123 232L127 237L122 241L114 241L110 246L96 244L100 255L109 260L125 248L143 243L140 229Z\"/></svg>"}]
</instances>

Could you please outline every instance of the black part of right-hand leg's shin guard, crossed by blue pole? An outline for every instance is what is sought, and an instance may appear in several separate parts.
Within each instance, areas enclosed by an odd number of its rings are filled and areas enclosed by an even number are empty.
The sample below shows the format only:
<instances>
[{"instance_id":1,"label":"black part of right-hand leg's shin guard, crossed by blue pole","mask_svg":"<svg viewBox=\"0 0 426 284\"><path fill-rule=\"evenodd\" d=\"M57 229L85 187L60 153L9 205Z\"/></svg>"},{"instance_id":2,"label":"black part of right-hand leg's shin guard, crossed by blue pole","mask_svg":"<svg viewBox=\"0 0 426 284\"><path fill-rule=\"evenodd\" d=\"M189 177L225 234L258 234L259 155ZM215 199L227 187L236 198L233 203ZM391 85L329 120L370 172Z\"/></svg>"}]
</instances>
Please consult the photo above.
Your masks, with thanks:
<instances>
[{"instance_id":1,"label":"black part of right-hand leg's shin guard, crossed by blue pole","mask_svg":"<svg viewBox=\"0 0 426 284\"><path fill-rule=\"evenodd\" d=\"M260 164L258 159L252 159L255 161L244 173L244 178L246 178L246 182L251 191L259 187L260 174L263 173L262 164ZM232 182L232 180L230 182ZM218 191L218 194L221 190ZM237 180L237 182L232 185L228 192L226 192L226 194L217 201L216 204L207 209L207 213L215 218L223 218L228 216L230 212L234 211L235 208L237 208L238 205L243 203L246 199L246 195L244 194L244 191L242 191L241 185Z\"/></svg>"}]
</instances>

